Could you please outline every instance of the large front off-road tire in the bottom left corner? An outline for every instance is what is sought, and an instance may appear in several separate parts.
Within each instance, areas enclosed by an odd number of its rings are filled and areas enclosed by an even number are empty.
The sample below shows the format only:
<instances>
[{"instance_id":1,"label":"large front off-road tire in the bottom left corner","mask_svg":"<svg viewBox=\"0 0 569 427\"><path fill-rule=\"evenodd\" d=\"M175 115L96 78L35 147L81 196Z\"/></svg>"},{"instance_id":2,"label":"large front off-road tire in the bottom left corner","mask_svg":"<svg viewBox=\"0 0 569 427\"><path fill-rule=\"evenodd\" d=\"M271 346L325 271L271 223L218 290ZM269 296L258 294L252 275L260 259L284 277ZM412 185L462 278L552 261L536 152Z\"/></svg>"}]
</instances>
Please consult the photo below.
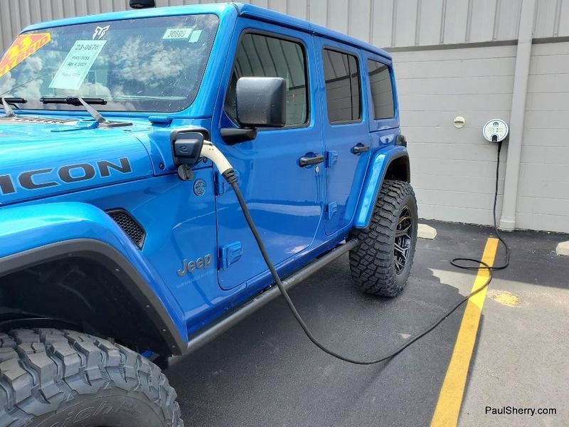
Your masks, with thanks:
<instances>
[{"instance_id":1,"label":"large front off-road tire in the bottom left corner","mask_svg":"<svg viewBox=\"0 0 569 427\"><path fill-rule=\"evenodd\" d=\"M68 330L0 334L1 427L183 427L159 367Z\"/></svg>"}]
</instances>

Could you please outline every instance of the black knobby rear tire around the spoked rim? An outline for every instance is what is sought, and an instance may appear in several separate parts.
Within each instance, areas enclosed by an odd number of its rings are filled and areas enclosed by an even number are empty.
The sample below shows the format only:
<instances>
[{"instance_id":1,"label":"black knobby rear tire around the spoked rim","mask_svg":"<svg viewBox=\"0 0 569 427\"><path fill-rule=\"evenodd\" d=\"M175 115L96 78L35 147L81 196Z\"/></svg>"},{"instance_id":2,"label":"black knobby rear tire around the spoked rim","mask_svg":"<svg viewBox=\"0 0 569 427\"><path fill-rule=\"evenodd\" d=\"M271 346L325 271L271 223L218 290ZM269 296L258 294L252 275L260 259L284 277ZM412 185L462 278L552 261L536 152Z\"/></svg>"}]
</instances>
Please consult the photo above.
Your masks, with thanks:
<instances>
[{"instance_id":1,"label":"black knobby rear tire around the spoked rim","mask_svg":"<svg viewBox=\"0 0 569 427\"><path fill-rule=\"evenodd\" d=\"M410 248L405 266L395 268L395 231L402 211L407 208L412 222ZM417 243L417 200L408 182L383 181L368 228L354 228L351 237L360 241L350 251L350 270L353 281L363 292L395 297L403 288L413 265Z\"/></svg>"}]
</instances>

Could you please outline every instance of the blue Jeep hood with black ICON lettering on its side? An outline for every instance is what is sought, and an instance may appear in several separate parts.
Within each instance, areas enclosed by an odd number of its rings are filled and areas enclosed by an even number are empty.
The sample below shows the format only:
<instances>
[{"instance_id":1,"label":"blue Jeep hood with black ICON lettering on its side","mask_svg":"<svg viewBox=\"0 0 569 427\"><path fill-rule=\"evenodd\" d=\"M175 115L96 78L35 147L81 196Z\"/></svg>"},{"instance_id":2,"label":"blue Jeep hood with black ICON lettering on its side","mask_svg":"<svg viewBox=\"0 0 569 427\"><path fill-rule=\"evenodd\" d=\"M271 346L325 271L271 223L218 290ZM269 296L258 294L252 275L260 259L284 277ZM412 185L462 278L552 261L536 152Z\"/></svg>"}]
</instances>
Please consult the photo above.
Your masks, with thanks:
<instances>
[{"instance_id":1,"label":"blue Jeep hood with black ICON lettering on its side","mask_svg":"<svg viewBox=\"0 0 569 427\"><path fill-rule=\"evenodd\" d=\"M0 206L152 175L137 134L149 122L95 127L95 122L29 122L0 117Z\"/></svg>"}]
</instances>

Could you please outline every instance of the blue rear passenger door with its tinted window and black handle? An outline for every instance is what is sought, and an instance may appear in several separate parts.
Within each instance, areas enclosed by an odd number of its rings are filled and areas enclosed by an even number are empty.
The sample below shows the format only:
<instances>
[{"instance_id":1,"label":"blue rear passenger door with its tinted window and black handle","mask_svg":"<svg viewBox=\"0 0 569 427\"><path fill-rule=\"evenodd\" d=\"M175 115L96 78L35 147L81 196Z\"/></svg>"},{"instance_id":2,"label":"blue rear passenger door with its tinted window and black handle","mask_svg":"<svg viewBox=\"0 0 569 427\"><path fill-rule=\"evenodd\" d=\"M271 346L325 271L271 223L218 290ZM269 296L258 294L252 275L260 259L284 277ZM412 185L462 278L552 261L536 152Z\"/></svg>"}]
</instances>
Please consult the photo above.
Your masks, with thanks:
<instances>
[{"instance_id":1,"label":"blue rear passenger door with its tinted window and black handle","mask_svg":"<svg viewBox=\"0 0 569 427\"><path fill-rule=\"evenodd\" d=\"M326 234L351 224L369 161L367 98L360 50L317 38L326 147Z\"/></svg>"}]
</instances>

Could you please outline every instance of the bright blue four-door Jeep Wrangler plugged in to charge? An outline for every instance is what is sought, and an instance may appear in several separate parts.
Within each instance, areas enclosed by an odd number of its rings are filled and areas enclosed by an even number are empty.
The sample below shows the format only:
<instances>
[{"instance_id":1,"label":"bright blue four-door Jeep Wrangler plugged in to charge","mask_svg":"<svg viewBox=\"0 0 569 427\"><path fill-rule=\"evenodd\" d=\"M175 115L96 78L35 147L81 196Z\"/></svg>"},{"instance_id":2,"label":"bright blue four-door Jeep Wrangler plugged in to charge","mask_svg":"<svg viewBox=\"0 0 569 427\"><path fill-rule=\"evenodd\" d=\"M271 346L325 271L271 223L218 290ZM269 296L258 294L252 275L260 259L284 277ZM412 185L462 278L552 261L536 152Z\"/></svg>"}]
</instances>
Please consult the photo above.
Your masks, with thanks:
<instances>
[{"instance_id":1,"label":"bright blue four-door Jeep Wrangler plugged in to charge","mask_svg":"<svg viewBox=\"0 0 569 427\"><path fill-rule=\"evenodd\" d=\"M183 426L159 366L280 295L245 211L284 288L345 253L363 291L405 285L378 48L248 4L124 11L26 28L0 97L0 426Z\"/></svg>"}]
</instances>

